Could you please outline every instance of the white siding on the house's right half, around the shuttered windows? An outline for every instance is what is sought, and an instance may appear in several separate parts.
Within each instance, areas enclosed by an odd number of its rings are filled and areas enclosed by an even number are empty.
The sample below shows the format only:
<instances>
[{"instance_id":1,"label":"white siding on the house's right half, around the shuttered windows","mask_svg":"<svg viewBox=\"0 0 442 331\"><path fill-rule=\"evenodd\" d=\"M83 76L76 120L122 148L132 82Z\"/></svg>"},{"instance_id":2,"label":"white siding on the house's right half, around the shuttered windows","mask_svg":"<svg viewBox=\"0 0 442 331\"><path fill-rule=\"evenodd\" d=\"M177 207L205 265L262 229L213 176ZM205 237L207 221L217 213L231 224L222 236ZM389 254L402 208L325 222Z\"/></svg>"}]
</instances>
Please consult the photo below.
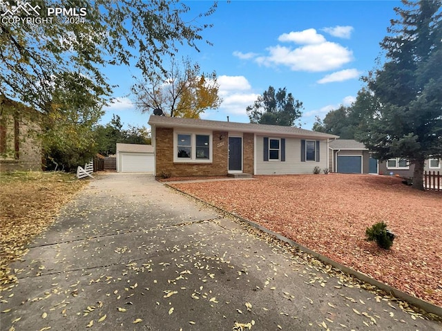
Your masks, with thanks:
<instances>
[{"instance_id":1,"label":"white siding on the house's right half, around the shuttered windows","mask_svg":"<svg viewBox=\"0 0 442 331\"><path fill-rule=\"evenodd\" d=\"M256 135L256 174L289 175L313 173L314 167L327 168L327 140L320 140L320 162L301 162L301 139L285 138L285 162L264 161L264 135ZM271 137L273 138L273 137ZM284 137L281 137L284 138Z\"/></svg>"}]
</instances>

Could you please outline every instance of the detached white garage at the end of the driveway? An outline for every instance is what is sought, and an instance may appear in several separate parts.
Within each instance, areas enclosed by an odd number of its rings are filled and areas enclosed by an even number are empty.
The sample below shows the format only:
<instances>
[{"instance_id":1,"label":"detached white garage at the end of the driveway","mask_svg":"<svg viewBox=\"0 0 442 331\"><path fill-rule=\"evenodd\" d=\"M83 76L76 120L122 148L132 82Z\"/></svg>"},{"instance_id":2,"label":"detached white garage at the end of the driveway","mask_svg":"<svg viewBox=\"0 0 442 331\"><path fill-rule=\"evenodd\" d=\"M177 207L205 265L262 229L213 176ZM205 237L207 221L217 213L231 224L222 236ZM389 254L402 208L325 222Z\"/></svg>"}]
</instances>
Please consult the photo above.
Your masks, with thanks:
<instances>
[{"instance_id":1,"label":"detached white garage at the end of the driveway","mask_svg":"<svg viewBox=\"0 0 442 331\"><path fill-rule=\"evenodd\" d=\"M153 146L117 143L117 172L153 172Z\"/></svg>"}]
</instances>

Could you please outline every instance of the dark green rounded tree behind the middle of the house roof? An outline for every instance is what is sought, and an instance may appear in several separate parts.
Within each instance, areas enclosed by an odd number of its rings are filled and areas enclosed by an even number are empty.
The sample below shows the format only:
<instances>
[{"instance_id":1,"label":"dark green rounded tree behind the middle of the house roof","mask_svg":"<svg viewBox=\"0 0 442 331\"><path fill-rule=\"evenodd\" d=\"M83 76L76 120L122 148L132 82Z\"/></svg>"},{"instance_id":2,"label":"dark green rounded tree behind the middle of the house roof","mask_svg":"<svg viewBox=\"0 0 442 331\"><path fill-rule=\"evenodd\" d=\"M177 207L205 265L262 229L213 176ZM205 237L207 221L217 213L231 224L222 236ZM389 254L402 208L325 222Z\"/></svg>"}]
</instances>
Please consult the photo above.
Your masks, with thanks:
<instances>
[{"instance_id":1,"label":"dark green rounded tree behind the middle of the house roof","mask_svg":"<svg viewBox=\"0 0 442 331\"><path fill-rule=\"evenodd\" d=\"M253 105L247 106L246 111L251 123L294 126L301 117L302 108L302 102L295 100L286 88L275 91L269 86Z\"/></svg>"}]
</instances>

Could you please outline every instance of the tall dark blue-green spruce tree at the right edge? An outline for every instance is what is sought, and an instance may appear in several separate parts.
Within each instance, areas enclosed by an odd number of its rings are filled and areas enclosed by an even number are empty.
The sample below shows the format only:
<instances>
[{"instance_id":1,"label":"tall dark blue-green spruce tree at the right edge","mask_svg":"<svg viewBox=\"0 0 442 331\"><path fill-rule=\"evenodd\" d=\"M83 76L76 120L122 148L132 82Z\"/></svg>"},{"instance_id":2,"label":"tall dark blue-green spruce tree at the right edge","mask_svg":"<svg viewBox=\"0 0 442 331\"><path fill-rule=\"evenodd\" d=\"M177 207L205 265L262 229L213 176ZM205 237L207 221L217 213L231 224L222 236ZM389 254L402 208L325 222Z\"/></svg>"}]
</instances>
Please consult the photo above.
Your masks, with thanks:
<instances>
[{"instance_id":1,"label":"tall dark blue-green spruce tree at the right edge","mask_svg":"<svg viewBox=\"0 0 442 331\"><path fill-rule=\"evenodd\" d=\"M366 77L378 108L367 108L358 135L379 160L404 158L414 164L413 187L423 189L427 158L442 156L441 0L403 1L395 8L382 68Z\"/></svg>"}]
</instances>

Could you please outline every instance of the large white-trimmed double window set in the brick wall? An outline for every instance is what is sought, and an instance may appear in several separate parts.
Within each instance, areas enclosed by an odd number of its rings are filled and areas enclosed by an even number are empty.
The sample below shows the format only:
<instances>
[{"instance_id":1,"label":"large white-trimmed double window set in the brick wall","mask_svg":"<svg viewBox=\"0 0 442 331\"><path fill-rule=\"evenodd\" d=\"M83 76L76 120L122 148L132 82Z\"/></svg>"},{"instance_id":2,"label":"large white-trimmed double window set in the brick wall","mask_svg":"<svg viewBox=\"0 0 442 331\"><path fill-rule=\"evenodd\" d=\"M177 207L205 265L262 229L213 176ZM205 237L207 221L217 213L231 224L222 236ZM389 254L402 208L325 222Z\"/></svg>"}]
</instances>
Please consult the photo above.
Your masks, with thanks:
<instances>
[{"instance_id":1,"label":"large white-trimmed double window set in the brick wall","mask_svg":"<svg viewBox=\"0 0 442 331\"><path fill-rule=\"evenodd\" d=\"M212 162L212 134L175 132L173 162Z\"/></svg>"}]
</instances>

